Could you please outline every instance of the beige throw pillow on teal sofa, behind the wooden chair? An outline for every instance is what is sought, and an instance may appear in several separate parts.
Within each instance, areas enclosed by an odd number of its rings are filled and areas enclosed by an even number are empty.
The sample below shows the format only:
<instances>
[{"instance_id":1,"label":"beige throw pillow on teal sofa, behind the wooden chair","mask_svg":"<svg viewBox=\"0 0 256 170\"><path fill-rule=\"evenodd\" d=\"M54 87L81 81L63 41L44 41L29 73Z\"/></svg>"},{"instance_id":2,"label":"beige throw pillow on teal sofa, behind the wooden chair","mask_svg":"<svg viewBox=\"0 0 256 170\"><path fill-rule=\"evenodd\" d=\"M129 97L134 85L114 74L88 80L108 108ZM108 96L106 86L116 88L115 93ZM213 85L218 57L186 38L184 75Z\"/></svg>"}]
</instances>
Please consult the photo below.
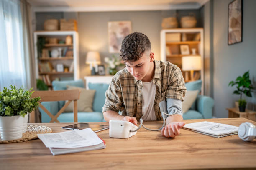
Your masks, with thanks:
<instances>
[{"instance_id":1,"label":"beige throw pillow on teal sofa, behind the wooden chair","mask_svg":"<svg viewBox=\"0 0 256 170\"><path fill-rule=\"evenodd\" d=\"M96 90L86 90L82 87L74 87L67 85L67 90L81 90L80 98L77 100L77 112L93 112L92 111L92 102ZM65 102L65 104L68 101ZM73 102L68 105L64 112L73 112Z\"/></svg>"}]
</instances>

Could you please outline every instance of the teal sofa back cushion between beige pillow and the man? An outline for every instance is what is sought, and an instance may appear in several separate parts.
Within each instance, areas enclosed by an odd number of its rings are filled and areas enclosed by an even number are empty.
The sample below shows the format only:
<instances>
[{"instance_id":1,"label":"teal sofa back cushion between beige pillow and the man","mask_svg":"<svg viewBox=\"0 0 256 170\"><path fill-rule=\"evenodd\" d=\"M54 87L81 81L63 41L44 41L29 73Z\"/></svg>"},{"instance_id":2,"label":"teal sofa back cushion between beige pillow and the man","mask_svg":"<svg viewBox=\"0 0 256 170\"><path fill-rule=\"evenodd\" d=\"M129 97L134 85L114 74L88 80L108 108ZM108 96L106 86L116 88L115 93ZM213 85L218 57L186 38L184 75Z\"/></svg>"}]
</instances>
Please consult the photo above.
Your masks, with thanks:
<instances>
[{"instance_id":1,"label":"teal sofa back cushion between beige pillow and the man","mask_svg":"<svg viewBox=\"0 0 256 170\"><path fill-rule=\"evenodd\" d=\"M105 92L108 90L109 84L105 83L88 83L89 89L96 90L92 105L94 112L102 112L102 107L105 104Z\"/></svg>"}]
</instances>

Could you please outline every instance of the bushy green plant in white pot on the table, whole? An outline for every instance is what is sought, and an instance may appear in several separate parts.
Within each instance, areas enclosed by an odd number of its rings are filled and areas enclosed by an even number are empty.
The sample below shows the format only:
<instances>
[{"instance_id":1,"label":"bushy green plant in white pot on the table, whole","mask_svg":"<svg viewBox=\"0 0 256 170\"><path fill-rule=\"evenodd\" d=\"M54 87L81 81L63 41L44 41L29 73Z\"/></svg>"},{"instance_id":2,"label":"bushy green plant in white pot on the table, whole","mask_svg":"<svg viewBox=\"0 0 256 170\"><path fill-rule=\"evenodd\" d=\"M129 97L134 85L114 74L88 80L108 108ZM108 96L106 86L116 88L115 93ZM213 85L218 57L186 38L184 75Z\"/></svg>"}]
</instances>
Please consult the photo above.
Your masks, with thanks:
<instances>
[{"instance_id":1,"label":"bushy green plant in white pot on the table, whole","mask_svg":"<svg viewBox=\"0 0 256 170\"><path fill-rule=\"evenodd\" d=\"M28 113L39 105L41 97L31 98L33 91L17 89L10 85L0 92L0 131L2 140L14 140L22 137L28 122ZM25 123L26 122L26 123Z\"/></svg>"}]
</instances>

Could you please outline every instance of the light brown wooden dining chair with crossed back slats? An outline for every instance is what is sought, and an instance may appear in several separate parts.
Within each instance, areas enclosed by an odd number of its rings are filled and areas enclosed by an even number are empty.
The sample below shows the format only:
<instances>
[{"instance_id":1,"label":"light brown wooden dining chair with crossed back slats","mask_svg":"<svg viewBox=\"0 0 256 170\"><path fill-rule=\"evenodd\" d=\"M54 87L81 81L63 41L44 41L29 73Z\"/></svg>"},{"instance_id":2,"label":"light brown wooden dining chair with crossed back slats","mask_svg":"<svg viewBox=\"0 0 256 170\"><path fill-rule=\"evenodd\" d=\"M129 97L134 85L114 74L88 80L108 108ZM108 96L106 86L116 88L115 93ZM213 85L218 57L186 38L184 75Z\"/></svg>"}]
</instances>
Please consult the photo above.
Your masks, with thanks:
<instances>
[{"instance_id":1,"label":"light brown wooden dining chair with crossed back slats","mask_svg":"<svg viewBox=\"0 0 256 170\"><path fill-rule=\"evenodd\" d=\"M66 109L66 107L73 101L73 112L74 112L74 122L77 122L77 100L80 97L81 91L79 89L75 90L56 90L56 91L34 91L32 98L41 97L39 102L39 107L41 107L47 115L51 117L50 123L58 122L57 118L61 113ZM51 101L64 101L68 102L59 110L56 115L52 115L42 104L41 102L51 102ZM30 123L35 123L35 111L30 114Z\"/></svg>"}]
</instances>

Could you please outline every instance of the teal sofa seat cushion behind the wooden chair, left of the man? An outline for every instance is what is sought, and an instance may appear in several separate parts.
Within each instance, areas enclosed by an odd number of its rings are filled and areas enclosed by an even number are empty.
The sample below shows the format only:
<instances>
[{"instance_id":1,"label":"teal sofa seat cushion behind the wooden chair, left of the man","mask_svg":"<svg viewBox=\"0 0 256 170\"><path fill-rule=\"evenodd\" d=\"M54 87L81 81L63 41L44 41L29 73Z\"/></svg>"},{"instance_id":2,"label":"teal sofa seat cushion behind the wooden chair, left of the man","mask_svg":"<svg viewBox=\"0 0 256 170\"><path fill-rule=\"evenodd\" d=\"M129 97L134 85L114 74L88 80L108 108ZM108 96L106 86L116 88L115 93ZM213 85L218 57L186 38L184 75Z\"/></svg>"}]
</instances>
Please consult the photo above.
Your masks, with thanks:
<instances>
[{"instance_id":1,"label":"teal sofa seat cushion behind the wooden chair, left of the man","mask_svg":"<svg viewBox=\"0 0 256 170\"><path fill-rule=\"evenodd\" d=\"M73 112L62 113L57 120L61 123L74 122L74 114ZM105 122L102 112L78 112L77 120L78 122Z\"/></svg>"}]
</instances>

